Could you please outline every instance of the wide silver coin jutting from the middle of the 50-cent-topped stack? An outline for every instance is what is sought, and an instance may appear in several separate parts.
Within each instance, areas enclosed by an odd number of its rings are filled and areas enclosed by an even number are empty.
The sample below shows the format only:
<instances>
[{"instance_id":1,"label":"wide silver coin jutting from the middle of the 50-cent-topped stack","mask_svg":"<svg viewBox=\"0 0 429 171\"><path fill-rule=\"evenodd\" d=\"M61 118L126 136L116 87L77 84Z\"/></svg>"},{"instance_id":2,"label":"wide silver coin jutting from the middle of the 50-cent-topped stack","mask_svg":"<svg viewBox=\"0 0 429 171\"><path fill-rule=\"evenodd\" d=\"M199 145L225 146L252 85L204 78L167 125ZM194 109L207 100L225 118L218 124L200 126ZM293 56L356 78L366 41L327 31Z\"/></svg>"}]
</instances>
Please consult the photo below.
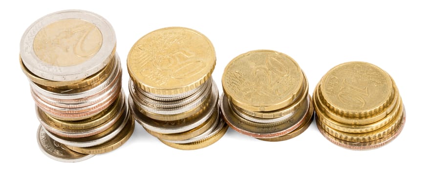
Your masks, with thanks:
<instances>
[{"instance_id":1,"label":"wide silver coin jutting from the middle of the 50-cent-topped stack","mask_svg":"<svg viewBox=\"0 0 429 171\"><path fill-rule=\"evenodd\" d=\"M156 121L141 113L135 106L135 103L132 100L131 96L129 96L128 103L134 118L144 128L147 128L154 132L165 134L185 132L203 124L210 118L212 114L214 114L215 107L217 107L219 94L215 82L213 82L211 89L211 96L210 99L208 99L210 100L209 106L205 110L201 111L203 113L198 114L196 118L192 119L186 118L179 121Z\"/></svg>"}]
</instances>

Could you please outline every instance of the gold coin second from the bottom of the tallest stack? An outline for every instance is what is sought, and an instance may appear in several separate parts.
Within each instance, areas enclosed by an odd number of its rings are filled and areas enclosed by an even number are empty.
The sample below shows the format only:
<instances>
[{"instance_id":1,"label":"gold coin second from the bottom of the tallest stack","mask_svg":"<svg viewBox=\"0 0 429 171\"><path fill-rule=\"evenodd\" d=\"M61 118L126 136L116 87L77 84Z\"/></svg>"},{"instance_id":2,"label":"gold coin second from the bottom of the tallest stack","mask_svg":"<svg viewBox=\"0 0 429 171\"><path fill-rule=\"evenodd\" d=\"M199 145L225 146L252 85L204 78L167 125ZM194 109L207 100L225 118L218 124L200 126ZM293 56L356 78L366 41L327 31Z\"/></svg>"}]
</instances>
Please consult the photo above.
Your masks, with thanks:
<instances>
[{"instance_id":1,"label":"gold coin second from the bottom of the tallest stack","mask_svg":"<svg viewBox=\"0 0 429 171\"><path fill-rule=\"evenodd\" d=\"M129 115L129 117L131 117L131 115ZM123 128L116 137L107 141L106 143L103 143L97 146L92 146L92 147L85 147L85 148L73 147L73 146L67 146L67 145L66 147L69 148L70 150L73 150L82 154L102 154L121 147L123 144L125 144L125 142L127 142L129 137L131 137L133 131L134 131L134 120L129 120L125 128Z\"/></svg>"}]
</instances>

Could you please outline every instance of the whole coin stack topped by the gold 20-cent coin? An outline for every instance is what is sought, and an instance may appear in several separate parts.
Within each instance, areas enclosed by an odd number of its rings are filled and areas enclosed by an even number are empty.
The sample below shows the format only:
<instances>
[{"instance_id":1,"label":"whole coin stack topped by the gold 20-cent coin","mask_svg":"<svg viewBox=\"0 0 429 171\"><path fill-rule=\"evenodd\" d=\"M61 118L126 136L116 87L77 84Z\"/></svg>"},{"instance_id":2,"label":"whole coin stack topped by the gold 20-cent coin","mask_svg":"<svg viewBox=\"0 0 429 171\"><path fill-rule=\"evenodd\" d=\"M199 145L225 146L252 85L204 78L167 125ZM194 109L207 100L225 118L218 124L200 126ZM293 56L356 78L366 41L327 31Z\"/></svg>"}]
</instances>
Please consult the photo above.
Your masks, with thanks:
<instances>
[{"instance_id":1,"label":"whole coin stack topped by the gold 20-cent coin","mask_svg":"<svg viewBox=\"0 0 429 171\"><path fill-rule=\"evenodd\" d=\"M307 78L289 56L272 50L239 55L222 76L222 115L228 125L264 141L284 141L313 120Z\"/></svg>"}]
</instances>

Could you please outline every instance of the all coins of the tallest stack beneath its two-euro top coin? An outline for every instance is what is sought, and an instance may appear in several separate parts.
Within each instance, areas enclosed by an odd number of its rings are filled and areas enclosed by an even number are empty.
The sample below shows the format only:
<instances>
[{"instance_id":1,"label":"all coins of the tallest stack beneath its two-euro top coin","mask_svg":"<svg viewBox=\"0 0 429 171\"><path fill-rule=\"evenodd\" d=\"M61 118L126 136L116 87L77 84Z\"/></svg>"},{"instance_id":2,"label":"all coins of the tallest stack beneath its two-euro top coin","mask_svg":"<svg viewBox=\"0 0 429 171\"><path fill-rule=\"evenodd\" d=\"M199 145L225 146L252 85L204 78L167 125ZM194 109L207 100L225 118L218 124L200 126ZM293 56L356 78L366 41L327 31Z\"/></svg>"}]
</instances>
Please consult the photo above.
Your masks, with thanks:
<instances>
[{"instance_id":1,"label":"all coins of the tallest stack beneath its two-euro top coin","mask_svg":"<svg viewBox=\"0 0 429 171\"><path fill-rule=\"evenodd\" d=\"M82 161L117 149L131 136L134 120L121 91L119 56L111 58L96 74L69 85L43 80L22 63L21 67L29 77L41 123L39 145L49 157L63 162Z\"/></svg>"}]
</instances>

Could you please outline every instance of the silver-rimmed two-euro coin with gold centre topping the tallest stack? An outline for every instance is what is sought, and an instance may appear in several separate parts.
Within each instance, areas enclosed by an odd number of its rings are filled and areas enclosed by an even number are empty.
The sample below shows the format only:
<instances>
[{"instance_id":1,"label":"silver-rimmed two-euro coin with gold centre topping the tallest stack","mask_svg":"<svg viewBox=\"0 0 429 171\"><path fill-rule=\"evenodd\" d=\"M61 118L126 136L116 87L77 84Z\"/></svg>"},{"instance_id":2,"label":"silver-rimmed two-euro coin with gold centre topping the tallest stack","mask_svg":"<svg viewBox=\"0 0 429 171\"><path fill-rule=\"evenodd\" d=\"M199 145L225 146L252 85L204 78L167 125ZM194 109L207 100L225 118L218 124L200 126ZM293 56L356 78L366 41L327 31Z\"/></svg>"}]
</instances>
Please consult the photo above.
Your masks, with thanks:
<instances>
[{"instance_id":1,"label":"silver-rimmed two-euro coin with gold centre topping the tallest stack","mask_svg":"<svg viewBox=\"0 0 429 171\"><path fill-rule=\"evenodd\" d=\"M103 17L66 10L34 22L22 36L22 63L51 81L81 81L104 68L114 56L116 37Z\"/></svg>"}]
</instances>

